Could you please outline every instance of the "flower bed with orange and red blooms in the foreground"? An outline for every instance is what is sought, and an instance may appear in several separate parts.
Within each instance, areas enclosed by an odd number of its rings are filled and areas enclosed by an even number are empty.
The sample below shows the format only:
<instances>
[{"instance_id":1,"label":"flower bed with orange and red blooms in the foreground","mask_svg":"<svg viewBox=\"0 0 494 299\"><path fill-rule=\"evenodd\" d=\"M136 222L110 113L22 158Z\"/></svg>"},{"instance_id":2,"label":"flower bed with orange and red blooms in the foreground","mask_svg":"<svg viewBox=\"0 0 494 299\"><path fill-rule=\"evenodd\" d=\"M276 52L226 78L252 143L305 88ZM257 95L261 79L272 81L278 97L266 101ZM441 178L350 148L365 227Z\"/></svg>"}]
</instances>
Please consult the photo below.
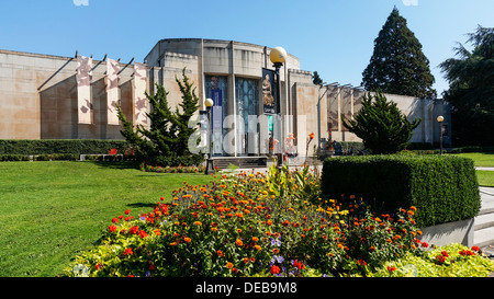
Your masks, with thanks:
<instances>
[{"instance_id":1,"label":"flower bed with orange and red blooms in the foreground","mask_svg":"<svg viewBox=\"0 0 494 299\"><path fill-rule=\"evenodd\" d=\"M351 195L322 198L319 183L307 166L240 172L207 185L184 182L151 211L112 219L99 245L77 256L66 274L396 276L408 275L402 258L430 260L428 244L416 239L414 207L375 215Z\"/></svg>"}]
</instances>

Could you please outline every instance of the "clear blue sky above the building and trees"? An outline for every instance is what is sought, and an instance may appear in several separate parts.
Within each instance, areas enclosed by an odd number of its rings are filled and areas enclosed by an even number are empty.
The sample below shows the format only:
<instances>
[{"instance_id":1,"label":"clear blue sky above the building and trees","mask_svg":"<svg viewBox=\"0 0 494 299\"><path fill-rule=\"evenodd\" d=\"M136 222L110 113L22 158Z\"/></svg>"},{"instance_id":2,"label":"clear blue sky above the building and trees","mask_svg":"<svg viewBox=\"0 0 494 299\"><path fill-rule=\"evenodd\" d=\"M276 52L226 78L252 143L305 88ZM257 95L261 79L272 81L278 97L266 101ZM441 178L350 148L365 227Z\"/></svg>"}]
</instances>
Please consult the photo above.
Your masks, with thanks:
<instances>
[{"instance_id":1,"label":"clear blue sky above the building and trees","mask_svg":"<svg viewBox=\"0 0 494 299\"><path fill-rule=\"evenodd\" d=\"M359 85L393 7L423 45L438 96L438 65L478 25L494 26L494 0L2 0L0 48L142 62L161 38L282 46L325 82Z\"/></svg>"}]
</instances>

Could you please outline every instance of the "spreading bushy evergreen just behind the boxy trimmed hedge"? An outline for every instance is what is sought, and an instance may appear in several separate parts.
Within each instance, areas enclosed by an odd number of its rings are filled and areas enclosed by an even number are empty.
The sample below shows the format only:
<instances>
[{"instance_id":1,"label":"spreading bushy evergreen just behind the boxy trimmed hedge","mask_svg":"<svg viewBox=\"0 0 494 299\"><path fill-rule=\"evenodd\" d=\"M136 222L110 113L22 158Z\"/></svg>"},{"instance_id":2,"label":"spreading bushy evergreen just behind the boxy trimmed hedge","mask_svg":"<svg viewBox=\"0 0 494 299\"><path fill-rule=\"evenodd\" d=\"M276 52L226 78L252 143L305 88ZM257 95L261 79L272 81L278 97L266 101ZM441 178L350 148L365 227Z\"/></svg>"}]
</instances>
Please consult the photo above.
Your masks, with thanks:
<instances>
[{"instance_id":1,"label":"spreading bushy evergreen just behind the boxy trimmed hedge","mask_svg":"<svg viewBox=\"0 0 494 299\"><path fill-rule=\"evenodd\" d=\"M409 122L396 103L388 101L381 91L373 96L371 93L363 95L362 108L353 118L347 123L345 117L341 117L343 125L361 138L363 146L373 154L404 150L413 130L422 122L420 118Z\"/></svg>"}]
</instances>

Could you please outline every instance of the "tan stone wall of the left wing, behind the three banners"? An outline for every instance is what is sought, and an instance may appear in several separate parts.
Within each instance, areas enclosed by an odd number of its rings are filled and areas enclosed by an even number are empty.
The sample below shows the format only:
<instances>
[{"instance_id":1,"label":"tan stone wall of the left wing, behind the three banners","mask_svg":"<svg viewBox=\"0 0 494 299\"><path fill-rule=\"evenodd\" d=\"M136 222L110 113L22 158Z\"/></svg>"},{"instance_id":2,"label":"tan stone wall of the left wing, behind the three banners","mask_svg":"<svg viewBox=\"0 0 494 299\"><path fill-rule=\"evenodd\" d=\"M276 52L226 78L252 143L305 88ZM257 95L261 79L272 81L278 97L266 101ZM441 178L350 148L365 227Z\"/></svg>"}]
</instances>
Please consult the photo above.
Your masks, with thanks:
<instances>
[{"instance_id":1,"label":"tan stone wall of the left wing, behind the three banners","mask_svg":"<svg viewBox=\"0 0 494 299\"><path fill-rule=\"evenodd\" d=\"M0 139L122 139L106 124L106 62L94 60L92 124L78 124L77 59L0 50ZM133 66L121 73L121 105L133 115Z\"/></svg>"}]
</instances>

